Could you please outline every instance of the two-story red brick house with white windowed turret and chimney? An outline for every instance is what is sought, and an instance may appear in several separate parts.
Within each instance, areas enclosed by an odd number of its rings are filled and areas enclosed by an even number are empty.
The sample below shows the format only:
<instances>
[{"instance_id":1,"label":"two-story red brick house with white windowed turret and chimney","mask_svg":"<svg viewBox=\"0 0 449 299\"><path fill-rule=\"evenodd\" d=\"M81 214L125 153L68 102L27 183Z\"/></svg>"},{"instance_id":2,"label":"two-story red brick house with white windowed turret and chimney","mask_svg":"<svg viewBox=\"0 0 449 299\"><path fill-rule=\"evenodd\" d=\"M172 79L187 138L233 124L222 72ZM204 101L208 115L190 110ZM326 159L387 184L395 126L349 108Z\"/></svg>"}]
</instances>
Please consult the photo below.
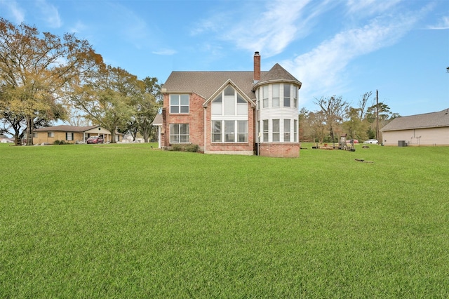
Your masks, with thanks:
<instances>
[{"instance_id":1,"label":"two-story red brick house with white windowed turret and chimney","mask_svg":"<svg viewBox=\"0 0 449 299\"><path fill-rule=\"evenodd\" d=\"M172 72L161 88L159 146L196 144L207 154L299 157L301 82L277 64L260 71ZM156 121L157 120L157 121Z\"/></svg>"}]
</instances>

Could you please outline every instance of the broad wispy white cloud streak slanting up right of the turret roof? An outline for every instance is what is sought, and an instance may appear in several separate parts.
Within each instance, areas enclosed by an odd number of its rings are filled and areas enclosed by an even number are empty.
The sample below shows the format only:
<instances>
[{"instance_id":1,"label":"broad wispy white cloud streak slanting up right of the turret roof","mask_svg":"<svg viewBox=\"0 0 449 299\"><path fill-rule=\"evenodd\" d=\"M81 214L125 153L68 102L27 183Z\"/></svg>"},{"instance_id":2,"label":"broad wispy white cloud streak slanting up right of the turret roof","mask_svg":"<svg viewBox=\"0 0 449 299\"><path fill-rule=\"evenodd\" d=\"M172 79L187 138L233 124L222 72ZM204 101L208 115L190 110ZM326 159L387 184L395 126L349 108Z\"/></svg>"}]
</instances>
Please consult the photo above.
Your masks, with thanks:
<instances>
[{"instance_id":1,"label":"broad wispy white cloud streak slanting up right of the turret roof","mask_svg":"<svg viewBox=\"0 0 449 299\"><path fill-rule=\"evenodd\" d=\"M419 15L375 18L363 27L339 32L309 53L281 64L302 81L302 98L334 95L350 84L345 81L345 69L352 60L395 44L419 18Z\"/></svg>"}]
</instances>

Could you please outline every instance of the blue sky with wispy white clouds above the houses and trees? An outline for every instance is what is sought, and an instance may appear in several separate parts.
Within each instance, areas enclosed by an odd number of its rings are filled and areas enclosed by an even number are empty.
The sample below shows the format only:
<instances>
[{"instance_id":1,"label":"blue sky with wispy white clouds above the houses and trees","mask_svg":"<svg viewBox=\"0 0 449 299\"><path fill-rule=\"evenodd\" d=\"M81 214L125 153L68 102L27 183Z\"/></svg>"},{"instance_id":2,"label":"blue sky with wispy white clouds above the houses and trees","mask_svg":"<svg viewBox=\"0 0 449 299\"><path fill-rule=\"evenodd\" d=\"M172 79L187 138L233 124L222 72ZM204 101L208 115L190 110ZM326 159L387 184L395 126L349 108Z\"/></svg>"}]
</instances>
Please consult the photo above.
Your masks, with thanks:
<instances>
[{"instance_id":1,"label":"blue sky with wispy white clouds above the houses and trees","mask_svg":"<svg viewBox=\"0 0 449 299\"><path fill-rule=\"evenodd\" d=\"M0 15L87 39L105 62L163 84L172 71L262 70L302 82L300 107L367 91L403 116L449 108L448 0L0 0ZM373 97L374 100L374 97Z\"/></svg>"}]
</instances>

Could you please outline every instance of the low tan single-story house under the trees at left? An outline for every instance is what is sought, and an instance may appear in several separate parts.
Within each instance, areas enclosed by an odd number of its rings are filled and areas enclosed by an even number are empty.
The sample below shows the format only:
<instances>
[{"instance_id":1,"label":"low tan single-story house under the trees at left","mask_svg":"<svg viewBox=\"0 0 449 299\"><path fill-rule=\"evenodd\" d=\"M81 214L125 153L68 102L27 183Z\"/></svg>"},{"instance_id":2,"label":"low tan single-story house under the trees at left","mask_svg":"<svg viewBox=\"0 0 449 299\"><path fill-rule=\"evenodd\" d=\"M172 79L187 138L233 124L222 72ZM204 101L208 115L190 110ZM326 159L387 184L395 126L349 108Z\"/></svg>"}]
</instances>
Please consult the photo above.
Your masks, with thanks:
<instances>
[{"instance_id":1,"label":"low tan single-story house under the trees at left","mask_svg":"<svg viewBox=\"0 0 449 299\"><path fill-rule=\"evenodd\" d=\"M111 132L102 126L48 126L34 129L33 143L53 144L56 140L68 143L86 142L91 136L101 136L105 142L111 142ZM115 141L119 142L123 134L116 133Z\"/></svg>"}]
</instances>

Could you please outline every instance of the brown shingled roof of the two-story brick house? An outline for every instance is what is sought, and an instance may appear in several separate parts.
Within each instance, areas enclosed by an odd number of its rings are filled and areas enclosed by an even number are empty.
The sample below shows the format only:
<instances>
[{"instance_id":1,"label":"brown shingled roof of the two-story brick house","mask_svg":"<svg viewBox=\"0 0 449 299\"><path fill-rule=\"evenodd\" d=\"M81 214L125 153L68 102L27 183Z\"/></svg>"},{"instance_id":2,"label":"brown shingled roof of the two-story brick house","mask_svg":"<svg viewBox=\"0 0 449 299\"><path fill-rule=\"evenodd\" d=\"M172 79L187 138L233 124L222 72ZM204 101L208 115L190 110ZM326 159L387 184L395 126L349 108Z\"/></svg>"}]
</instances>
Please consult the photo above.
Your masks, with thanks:
<instances>
[{"instance_id":1,"label":"brown shingled roof of the two-story brick house","mask_svg":"<svg viewBox=\"0 0 449 299\"><path fill-rule=\"evenodd\" d=\"M255 100L253 71L172 72L162 87L166 88L167 93L193 91L208 100L228 80L232 80L248 98ZM260 72L257 85L269 81L291 81L301 86L301 82L278 63L269 72Z\"/></svg>"}]
</instances>

